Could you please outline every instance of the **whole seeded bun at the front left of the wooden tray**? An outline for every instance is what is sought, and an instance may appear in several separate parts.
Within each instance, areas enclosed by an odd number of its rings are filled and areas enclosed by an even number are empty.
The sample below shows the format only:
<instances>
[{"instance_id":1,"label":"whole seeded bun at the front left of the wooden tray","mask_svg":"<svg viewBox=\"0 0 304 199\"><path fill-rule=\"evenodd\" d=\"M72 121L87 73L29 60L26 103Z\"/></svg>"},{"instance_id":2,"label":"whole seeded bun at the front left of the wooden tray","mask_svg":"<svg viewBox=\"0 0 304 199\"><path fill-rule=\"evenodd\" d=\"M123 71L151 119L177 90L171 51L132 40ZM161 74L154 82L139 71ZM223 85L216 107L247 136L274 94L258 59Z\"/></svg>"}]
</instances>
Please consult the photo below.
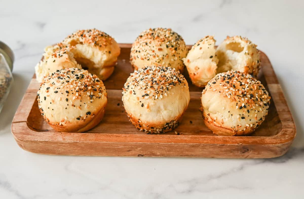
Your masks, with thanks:
<instances>
[{"instance_id":1,"label":"whole seeded bun at the front left of the wooden tray","mask_svg":"<svg viewBox=\"0 0 304 199\"><path fill-rule=\"evenodd\" d=\"M37 94L44 119L62 132L83 132L94 127L107 104L103 82L82 69L57 70L44 79Z\"/></svg>"}]
</instances>

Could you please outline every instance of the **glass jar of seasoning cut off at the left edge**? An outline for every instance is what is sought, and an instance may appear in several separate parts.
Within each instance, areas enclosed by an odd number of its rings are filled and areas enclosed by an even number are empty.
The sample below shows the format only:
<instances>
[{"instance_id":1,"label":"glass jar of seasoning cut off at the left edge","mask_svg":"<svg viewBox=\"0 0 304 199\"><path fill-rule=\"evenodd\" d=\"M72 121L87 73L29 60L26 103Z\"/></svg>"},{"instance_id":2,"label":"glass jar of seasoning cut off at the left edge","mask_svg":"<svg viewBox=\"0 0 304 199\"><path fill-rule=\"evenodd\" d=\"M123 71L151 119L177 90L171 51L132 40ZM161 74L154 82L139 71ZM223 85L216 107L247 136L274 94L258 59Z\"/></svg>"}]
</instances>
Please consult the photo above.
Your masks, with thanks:
<instances>
[{"instance_id":1,"label":"glass jar of seasoning cut off at the left edge","mask_svg":"<svg viewBox=\"0 0 304 199\"><path fill-rule=\"evenodd\" d=\"M0 41L0 112L13 83L13 51Z\"/></svg>"}]
</instances>

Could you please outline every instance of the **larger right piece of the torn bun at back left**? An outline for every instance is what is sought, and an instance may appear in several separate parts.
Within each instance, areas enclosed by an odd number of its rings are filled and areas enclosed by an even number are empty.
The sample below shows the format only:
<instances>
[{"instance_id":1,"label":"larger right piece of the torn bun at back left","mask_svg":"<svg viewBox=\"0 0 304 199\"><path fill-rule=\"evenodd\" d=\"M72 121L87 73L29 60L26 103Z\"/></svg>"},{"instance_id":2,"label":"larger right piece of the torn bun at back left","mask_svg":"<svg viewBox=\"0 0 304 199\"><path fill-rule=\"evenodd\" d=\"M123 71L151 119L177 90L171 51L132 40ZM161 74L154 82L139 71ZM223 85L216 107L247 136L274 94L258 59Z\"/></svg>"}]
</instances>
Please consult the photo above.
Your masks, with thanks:
<instances>
[{"instance_id":1,"label":"larger right piece of the torn bun at back left","mask_svg":"<svg viewBox=\"0 0 304 199\"><path fill-rule=\"evenodd\" d=\"M71 46L77 62L87 67L101 80L106 80L114 71L120 47L115 39L97 29L78 30L63 41Z\"/></svg>"}]
</instances>

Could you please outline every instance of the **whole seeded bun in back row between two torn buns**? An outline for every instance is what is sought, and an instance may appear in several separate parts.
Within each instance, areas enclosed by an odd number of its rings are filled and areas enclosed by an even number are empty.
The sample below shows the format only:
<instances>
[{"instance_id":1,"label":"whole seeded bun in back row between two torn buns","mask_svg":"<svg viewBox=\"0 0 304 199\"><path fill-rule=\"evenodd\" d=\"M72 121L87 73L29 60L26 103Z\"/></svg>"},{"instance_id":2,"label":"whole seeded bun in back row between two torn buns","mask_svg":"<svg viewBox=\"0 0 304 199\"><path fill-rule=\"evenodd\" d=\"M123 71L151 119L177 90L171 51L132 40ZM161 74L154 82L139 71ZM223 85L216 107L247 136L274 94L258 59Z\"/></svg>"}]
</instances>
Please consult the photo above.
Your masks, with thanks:
<instances>
[{"instance_id":1,"label":"whole seeded bun in back row between two torn buns","mask_svg":"<svg viewBox=\"0 0 304 199\"><path fill-rule=\"evenodd\" d=\"M183 70L182 58L187 53L184 40L171 29L148 29L140 33L132 44L130 63L136 70L151 65Z\"/></svg>"}]
</instances>

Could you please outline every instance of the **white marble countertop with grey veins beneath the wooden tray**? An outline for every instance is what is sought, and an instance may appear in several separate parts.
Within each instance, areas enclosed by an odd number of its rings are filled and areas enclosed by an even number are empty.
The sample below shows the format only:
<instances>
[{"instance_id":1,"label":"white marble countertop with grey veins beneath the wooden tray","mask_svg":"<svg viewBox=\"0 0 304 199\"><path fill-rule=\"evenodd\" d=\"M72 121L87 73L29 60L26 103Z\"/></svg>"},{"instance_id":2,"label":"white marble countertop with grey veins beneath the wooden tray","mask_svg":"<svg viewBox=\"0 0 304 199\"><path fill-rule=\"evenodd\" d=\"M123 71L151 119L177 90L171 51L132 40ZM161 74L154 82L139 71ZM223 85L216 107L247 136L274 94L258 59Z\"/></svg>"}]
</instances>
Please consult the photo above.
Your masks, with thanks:
<instances>
[{"instance_id":1,"label":"white marble countertop with grey veins beneath the wooden tray","mask_svg":"<svg viewBox=\"0 0 304 199\"><path fill-rule=\"evenodd\" d=\"M0 198L303 198L303 1L4 1L0 40L14 50L13 85L0 114ZM97 28L132 43L171 27L187 44L247 36L266 53L297 126L292 148L274 159L126 158L29 153L10 126L45 46Z\"/></svg>"}]
</instances>

